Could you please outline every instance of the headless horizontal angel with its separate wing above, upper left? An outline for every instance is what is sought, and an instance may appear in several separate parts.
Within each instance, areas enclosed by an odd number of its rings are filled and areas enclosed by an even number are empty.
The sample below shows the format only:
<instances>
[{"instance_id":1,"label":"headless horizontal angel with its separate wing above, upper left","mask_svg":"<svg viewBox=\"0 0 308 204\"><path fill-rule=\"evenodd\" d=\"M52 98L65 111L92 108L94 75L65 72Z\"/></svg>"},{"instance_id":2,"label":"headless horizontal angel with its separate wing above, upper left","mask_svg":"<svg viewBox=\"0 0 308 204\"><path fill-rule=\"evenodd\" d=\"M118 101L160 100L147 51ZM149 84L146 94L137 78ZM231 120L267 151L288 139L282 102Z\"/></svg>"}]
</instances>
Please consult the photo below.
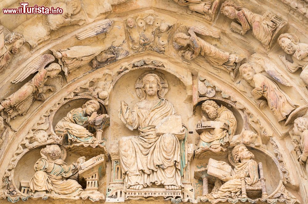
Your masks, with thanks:
<instances>
[{"instance_id":1,"label":"headless horizontal angel with its separate wing above, upper left","mask_svg":"<svg viewBox=\"0 0 308 204\"><path fill-rule=\"evenodd\" d=\"M106 33L110 30L111 25L113 25L113 21L111 23L109 19L106 19L106 21L101 24L79 33L76 37L78 39L84 39L101 33ZM67 76L72 69L77 69L88 64L95 57L95 63L103 63L110 58L114 58L115 55L110 54L109 52L104 52L111 47L114 38L115 36L107 36L103 41L94 42L91 45L79 45L67 49L59 49L57 51L52 50L52 52L59 60L59 64L61 65L65 76Z\"/></svg>"}]
</instances>

